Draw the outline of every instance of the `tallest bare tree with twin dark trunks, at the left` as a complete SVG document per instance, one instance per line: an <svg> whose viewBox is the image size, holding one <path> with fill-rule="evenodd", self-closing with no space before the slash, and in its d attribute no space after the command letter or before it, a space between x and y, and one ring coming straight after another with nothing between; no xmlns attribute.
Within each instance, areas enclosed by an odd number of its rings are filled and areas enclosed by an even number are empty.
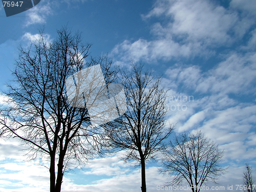
<svg viewBox="0 0 256 192"><path fill-rule="evenodd" d="M108 83L115 76L106 56L88 57L91 45L82 43L81 33L63 27L57 34L50 42L41 30L30 47L19 48L14 83L8 85L9 100L2 106L0 120L2 135L18 137L27 144L31 159L49 159L51 192L61 190L63 174L71 166L86 163L100 152L99 133L90 126L88 110L74 108L68 102L66 79L97 64Z"/></svg>

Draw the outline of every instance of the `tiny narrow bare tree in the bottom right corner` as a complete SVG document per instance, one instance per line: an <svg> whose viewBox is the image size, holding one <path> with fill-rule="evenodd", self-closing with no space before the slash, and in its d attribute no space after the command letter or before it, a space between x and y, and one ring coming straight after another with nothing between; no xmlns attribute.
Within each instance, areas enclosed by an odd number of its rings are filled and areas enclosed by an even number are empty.
<svg viewBox="0 0 256 192"><path fill-rule="evenodd" d="M251 166L248 163L245 164L245 171L244 171L243 178L244 178L244 191L245 192L256 191L255 185L253 185L255 181L252 178Z"/></svg>

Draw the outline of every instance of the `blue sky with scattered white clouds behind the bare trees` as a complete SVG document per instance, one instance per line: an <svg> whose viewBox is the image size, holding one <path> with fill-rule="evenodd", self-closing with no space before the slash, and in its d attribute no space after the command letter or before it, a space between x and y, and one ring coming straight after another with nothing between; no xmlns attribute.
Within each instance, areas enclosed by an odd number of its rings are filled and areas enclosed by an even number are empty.
<svg viewBox="0 0 256 192"><path fill-rule="evenodd" d="M245 162L256 167L255 0L41 0L10 17L1 5L0 22L1 90L11 79L19 44L35 39L42 26L54 39L56 29L68 24L93 44L92 56L108 53L122 67L141 61L163 76L167 121L177 123L175 132L202 130L224 150L223 166L229 168L219 186L235 191L243 184ZM49 191L49 171L39 165L45 161L26 161L21 148L17 140L0 140L0 191ZM120 156L74 169L62 191L140 191L139 168ZM149 192L170 180L158 166L146 165Z"/></svg>

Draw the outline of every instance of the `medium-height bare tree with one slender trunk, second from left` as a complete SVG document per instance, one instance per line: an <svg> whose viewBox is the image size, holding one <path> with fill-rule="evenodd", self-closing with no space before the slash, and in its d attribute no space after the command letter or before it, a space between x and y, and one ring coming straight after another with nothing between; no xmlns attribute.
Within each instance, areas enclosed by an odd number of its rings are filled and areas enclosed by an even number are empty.
<svg viewBox="0 0 256 192"><path fill-rule="evenodd" d="M165 94L160 78L152 71L143 72L143 66L132 63L132 71L121 72L127 111L105 126L106 139L114 148L127 150L125 160L136 160L141 166L141 191L146 191L145 162L154 159L156 152L172 132L165 126Z"/></svg>

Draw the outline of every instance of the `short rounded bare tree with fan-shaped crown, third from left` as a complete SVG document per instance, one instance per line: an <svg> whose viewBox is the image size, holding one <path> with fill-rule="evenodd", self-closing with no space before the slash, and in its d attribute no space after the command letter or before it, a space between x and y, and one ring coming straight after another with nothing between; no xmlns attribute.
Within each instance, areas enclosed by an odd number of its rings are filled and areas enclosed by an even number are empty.
<svg viewBox="0 0 256 192"><path fill-rule="evenodd" d="M163 169L160 171L174 176L168 185L185 180L193 192L199 192L204 182L216 183L225 169L220 166L223 151L210 142L201 131L187 135L176 135L169 150L163 152Z"/></svg>

